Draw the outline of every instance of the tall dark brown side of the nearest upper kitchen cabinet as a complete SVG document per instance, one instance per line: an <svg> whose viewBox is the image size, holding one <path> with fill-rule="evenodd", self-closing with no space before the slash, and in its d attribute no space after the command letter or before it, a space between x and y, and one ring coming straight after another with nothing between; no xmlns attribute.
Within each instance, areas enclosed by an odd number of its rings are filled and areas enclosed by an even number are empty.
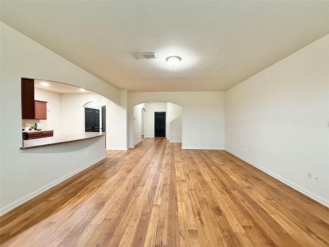
<svg viewBox="0 0 329 247"><path fill-rule="evenodd" d="M34 119L34 80L22 78L22 119Z"/></svg>

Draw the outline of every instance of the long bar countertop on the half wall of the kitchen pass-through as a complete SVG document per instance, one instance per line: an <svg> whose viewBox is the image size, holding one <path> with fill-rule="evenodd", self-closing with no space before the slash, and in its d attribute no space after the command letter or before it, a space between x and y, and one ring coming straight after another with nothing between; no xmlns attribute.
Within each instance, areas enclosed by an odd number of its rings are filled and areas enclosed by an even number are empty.
<svg viewBox="0 0 329 247"><path fill-rule="evenodd" d="M29 132L38 132L38 131L29 131ZM106 132L84 132L84 133L77 133L70 135L50 136L44 138L23 140L23 147L21 147L21 150L59 145L63 143L77 142L79 140L95 138L105 134Z"/></svg>

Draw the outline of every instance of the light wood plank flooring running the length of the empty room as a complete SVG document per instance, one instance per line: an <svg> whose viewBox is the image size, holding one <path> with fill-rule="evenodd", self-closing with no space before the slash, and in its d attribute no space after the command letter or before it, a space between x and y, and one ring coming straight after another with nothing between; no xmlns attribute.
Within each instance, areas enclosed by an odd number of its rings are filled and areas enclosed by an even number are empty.
<svg viewBox="0 0 329 247"><path fill-rule="evenodd" d="M329 246L329 209L218 150L144 138L1 217L1 246Z"/></svg>

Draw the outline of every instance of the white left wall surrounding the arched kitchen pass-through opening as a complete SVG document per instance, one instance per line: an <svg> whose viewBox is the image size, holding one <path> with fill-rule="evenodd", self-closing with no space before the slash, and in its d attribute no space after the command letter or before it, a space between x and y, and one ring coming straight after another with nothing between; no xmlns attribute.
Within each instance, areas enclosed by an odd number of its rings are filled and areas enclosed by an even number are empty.
<svg viewBox="0 0 329 247"><path fill-rule="evenodd" d="M102 158L101 153L83 155L88 146L97 149L99 142L86 142L77 146L56 150L54 153L22 153L21 78L33 78L63 82L84 87L115 102L120 101L120 91L87 73L80 67L61 58L54 52L32 41L8 25L1 23L1 88L0 88L0 214L13 208L30 196L53 185L67 174ZM10 105L10 108L7 106ZM10 119L10 120L8 120ZM8 131L10 130L10 131ZM105 142L104 138L101 138ZM101 141L100 141L101 142ZM105 144L103 144L105 146ZM80 151L79 151L80 150ZM85 154L85 153L84 153ZM56 156L56 158L54 158ZM76 164L80 167L77 168ZM65 174L64 174L65 173Z"/></svg>

